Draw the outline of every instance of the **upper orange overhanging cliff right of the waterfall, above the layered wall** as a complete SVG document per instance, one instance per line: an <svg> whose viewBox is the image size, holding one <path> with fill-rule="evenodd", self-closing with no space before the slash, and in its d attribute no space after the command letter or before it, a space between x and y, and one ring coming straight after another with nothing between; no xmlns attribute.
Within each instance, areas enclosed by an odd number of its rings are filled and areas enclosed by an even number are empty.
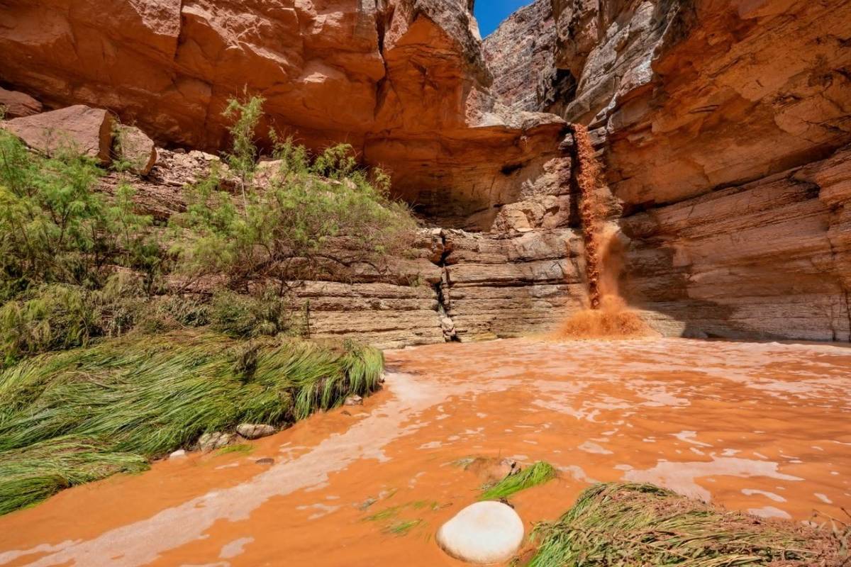
<svg viewBox="0 0 851 567"><path fill-rule="evenodd" d="M780 173L851 142L847 2L538 0L527 10L555 27L554 65L578 82L575 92L551 82L557 95L535 96L534 110L589 125L628 210ZM536 93L512 85L540 62L517 38L522 27L504 28L486 48L520 43L513 65L494 69L494 90L512 105Z"/></svg>

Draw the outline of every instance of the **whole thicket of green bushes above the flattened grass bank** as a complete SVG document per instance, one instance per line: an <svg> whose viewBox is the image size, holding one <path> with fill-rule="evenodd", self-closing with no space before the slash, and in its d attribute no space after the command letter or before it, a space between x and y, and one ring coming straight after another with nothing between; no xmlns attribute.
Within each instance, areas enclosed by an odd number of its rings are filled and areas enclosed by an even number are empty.
<svg viewBox="0 0 851 567"><path fill-rule="evenodd" d="M278 166L259 175L262 105L230 101L227 167L215 162L186 188L168 252L163 231L134 212L131 185L106 196L93 160L71 151L40 156L0 130L0 364L134 329L212 323L231 337L297 335L308 327L291 309L293 286L381 269L387 255L407 251L414 219L391 200L386 174L357 166L350 145L311 159L271 132ZM126 132L115 135L120 153ZM185 297L192 283L220 275L226 291L213 301Z"/></svg>

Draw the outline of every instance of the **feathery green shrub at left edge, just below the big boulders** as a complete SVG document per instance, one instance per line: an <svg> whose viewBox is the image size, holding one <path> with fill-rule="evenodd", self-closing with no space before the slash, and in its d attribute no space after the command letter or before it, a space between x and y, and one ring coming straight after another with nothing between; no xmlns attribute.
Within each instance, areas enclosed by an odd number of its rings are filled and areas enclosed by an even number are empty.
<svg viewBox="0 0 851 567"><path fill-rule="evenodd" d="M134 213L128 184L111 202L94 191L101 174L87 157L37 156L0 131L0 300L41 284L99 288L116 266L152 285L160 250L151 218Z"/></svg>

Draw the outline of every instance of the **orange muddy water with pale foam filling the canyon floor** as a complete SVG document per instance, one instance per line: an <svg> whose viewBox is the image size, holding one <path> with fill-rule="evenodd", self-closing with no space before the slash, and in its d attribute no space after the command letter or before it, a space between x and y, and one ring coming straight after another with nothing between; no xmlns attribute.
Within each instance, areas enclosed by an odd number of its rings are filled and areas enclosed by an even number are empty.
<svg viewBox="0 0 851 567"><path fill-rule="evenodd" d="M599 480L796 521L851 506L851 349L518 339L387 361L363 407L250 453L158 462L0 518L0 565L460 564L433 535L477 498L453 464L468 456L561 470L512 498L527 525Z"/></svg>

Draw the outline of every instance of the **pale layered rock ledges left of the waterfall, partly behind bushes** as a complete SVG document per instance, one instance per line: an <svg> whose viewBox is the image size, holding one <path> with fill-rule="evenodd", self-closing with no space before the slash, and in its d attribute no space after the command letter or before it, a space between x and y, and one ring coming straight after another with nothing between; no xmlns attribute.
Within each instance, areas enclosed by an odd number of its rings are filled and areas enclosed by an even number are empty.
<svg viewBox="0 0 851 567"><path fill-rule="evenodd" d="M165 224L186 209L183 186L218 158L197 150L161 149L158 156L145 179L110 173L100 188L111 194L120 182L132 183L140 213ZM563 173L569 178L569 167ZM379 270L354 265L334 281L300 282L294 309L306 315L311 337L360 337L381 348L550 331L585 300L582 239L574 229L523 226L503 233L423 228L411 254Z"/></svg>

